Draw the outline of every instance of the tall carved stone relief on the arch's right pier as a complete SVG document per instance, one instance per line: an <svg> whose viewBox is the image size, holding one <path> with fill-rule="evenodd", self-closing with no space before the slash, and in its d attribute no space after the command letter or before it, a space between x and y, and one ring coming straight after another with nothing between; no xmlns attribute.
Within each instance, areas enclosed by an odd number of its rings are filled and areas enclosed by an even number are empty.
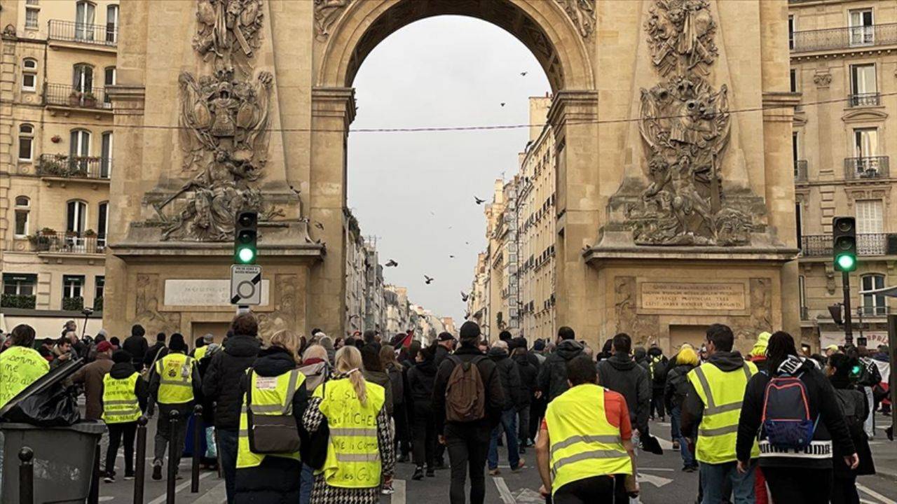
<svg viewBox="0 0 897 504"><path fill-rule="evenodd" d="M750 243L746 201L726 200L721 159L729 142L728 88L705 80L718 55L707 0L656 0L645 22L663 80L641 90L640 134L649 186L625 207L638 245Z"/></svg>

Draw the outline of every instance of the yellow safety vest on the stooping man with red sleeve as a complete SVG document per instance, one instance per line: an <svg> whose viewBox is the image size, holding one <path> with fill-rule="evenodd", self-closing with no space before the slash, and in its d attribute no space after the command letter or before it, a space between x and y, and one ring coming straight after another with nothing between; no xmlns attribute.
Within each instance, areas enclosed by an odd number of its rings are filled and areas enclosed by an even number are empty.
<svg viewBox="0 0 897 504"><path fill-rule="evenodd" d="M607 421L605 388L578 385L548 404L552 495L563 485L604 474L632 474L620 428Z"/></svg>

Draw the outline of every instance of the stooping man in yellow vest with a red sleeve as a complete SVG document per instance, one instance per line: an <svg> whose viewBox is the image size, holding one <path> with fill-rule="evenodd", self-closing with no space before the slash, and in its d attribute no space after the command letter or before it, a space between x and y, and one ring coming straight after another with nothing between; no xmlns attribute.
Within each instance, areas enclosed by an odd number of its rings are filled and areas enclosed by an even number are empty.
<svg viewBox="0 0 897 504"><path fill-rule="evenodd" d="M555 504L614 501L614 480L639 493L629 408L623 395L597 385L595 363L585 355L567 362L570 388L548 404L536 439L543 495Z"/></svg>

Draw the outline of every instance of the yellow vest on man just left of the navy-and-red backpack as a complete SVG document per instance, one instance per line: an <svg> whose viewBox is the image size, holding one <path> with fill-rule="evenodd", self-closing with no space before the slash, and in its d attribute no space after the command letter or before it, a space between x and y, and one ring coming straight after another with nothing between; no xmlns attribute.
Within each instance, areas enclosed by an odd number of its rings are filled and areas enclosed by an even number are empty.
<svg viewBox="0 0 897 504"><path fill-rule="evenodd" d="M748 361L734 371L723 371L712 363L689 371L688 380L704 404L695 448L695 458L699 462L723 464L736 460L741 402L745 398L747 382L756 372L757 367ZM760 448L754 440L751 457L757 456L760 456Z"/></svg>

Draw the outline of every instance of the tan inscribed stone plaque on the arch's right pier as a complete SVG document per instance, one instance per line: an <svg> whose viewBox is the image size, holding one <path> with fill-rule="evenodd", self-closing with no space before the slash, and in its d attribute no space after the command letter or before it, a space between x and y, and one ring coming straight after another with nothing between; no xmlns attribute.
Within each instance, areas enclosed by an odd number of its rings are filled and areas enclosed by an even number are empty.
<svg viewBox="0 0 897 504"><path fill-rule="evenodd" d="M745 284L643 282L641 308L699 311L745 309Z"/></svg>

